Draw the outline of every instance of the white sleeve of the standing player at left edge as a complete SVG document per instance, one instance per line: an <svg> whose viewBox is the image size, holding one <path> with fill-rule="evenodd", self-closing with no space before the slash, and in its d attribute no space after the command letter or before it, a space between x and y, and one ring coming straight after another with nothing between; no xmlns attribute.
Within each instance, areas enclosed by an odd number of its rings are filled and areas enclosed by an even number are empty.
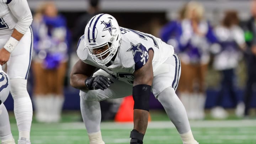
<svg viewBox="0 0 256 144"><path fill-rule="evenodd" d="M33 20L27 0L4 0L4 2L18 20L14 28L25 34Z"/></svg>

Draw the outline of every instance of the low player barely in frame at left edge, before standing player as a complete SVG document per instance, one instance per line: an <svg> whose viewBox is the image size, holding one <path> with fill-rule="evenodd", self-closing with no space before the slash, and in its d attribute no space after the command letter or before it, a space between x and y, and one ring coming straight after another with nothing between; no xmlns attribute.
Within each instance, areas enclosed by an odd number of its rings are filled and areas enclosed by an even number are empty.
<svg viewBox="0 0 256 144"><path fill-rule="evenodd" d="M4 102L10 93L10 79L0 65L0 139L1 144L15 144Z"/></svg>

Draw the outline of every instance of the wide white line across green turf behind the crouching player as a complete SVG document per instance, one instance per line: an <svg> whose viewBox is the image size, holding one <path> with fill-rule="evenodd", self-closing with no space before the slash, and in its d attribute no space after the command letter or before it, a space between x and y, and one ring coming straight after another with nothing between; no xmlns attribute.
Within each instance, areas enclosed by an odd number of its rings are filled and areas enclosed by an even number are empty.
<svg viewBox="0 0 256 144"><path fill-rule="evenodd" d="M16 124L11 124L12 128L15 128ZM71 130L71 129L85 129L83 122L70 122L70 123L32 123L32 127L59 130ZM243 127L256 127L256 120L226 120L226 121L191 121L190 126L192 128L243 128ZM133 127L132 122L119 123L119 122L102 122L101 129L131 129ZM154 121L149 122L149 129L161 129L161 128L175 128L171 121ZM34 129L37 131L36 129Z"/></svg>

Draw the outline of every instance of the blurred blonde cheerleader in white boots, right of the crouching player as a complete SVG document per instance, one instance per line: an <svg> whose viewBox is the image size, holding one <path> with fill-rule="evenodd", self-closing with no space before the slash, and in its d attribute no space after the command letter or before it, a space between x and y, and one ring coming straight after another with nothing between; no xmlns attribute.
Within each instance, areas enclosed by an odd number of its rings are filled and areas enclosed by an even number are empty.
<svg viewBox="0 0 256 144"><path fill-rule="evenodd" d="M205 77L209 63L209 49L217 42L211 26L203 19L202 4L188 2L185 19L181 22L180 53L181 78L179 94L189 119L204 118L206 99Z"/></svg>

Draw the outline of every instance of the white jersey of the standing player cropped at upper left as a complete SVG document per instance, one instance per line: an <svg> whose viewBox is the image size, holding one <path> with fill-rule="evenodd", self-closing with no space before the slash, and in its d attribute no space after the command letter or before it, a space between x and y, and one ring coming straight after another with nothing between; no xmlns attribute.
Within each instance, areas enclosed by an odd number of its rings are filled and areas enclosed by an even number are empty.
<svg viewBox="0 0 256 144"><path fill-rule="evenodd" d="M0 0L0 38L10 37L14 28L25 34L31 22L26 0Z"/></svg>

